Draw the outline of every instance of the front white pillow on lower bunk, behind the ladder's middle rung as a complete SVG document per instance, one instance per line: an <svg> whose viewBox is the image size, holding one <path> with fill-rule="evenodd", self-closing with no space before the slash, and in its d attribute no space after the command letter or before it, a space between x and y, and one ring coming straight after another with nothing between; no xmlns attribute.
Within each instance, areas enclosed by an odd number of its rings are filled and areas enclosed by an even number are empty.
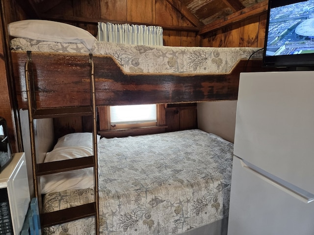
<svg viewBox="0 0 314 235"><path fill-rule="evenodd" d="M87 157L93 155L90 147L59 147L46 154L44 162ZM94 171L92 167L65 171L40 177L43 194L60 192L69 189L94 187Z"/></svg>

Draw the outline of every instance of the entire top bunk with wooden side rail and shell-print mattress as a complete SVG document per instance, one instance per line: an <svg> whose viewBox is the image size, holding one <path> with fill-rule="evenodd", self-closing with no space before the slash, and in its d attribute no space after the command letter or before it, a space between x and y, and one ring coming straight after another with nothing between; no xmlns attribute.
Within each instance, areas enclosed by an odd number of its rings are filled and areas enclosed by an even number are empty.
<svg viewBox="0 0 314 235"><path fill-rule="evenodd" d="M255 47L115 44L97 41L92 35L89 38L87 31L79 32L87 35L82 39L72 37L71 41L68 37L59 42L55 42L54 33L51 42L38 35L29 37L29 33L15 35L12 27L9 32L15 37L10 47L21 109L27 107L27 60L31 62L38 108L89 105L90 60L96 105L108 106L235 100L239 73L263 70L261 49Z"/></svg>

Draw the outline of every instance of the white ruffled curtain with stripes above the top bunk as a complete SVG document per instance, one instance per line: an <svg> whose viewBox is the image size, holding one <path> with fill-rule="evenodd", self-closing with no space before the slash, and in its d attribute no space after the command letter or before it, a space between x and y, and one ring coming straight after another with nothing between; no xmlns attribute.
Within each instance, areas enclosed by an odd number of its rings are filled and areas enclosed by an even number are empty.
<svg viewBox="0 0 314 235"><path fill-rule="evenodd" d="M163 46L162 36L163 31L160 26L98 22L98 41Z"/></svg>

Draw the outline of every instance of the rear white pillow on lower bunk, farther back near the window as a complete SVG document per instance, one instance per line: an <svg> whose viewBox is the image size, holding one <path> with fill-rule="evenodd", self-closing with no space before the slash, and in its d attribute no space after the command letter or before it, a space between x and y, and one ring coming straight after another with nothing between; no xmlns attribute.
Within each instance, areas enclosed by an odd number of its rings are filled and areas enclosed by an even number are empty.
<svg viewBox="0 0 314 235"><path fill-rule="evenodd" d="M100 140L100 136L97 135L97 142L99 142L99 140ZM60 148L60 147L70 147L70 146L93 148L93 134L90 132L79 132L79 133L67 134L58 139L53 149Z"/></svg>

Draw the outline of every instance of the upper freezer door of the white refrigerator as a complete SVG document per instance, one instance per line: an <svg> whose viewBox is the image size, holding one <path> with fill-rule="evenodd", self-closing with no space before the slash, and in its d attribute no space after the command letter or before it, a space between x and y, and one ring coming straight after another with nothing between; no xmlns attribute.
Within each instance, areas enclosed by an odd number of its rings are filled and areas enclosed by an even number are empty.
<svg viewBox="0 0 314 235"><path fill-rule="evenodd" d="M240 74L234 154L314 198L314 71Z"/></svg>

